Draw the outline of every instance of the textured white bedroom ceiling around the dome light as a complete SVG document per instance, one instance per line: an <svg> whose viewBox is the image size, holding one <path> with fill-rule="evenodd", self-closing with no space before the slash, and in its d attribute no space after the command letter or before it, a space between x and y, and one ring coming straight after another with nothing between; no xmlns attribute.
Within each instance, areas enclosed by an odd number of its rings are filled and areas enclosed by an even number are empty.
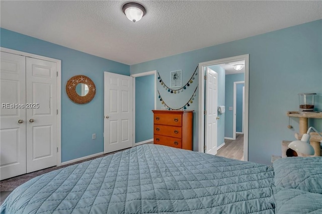
<svg viewBox="0 0 322 214"><path fill-rule="evenodd" d="M128 65L322 19L322 1L1 1L1 27Z"/></svg>

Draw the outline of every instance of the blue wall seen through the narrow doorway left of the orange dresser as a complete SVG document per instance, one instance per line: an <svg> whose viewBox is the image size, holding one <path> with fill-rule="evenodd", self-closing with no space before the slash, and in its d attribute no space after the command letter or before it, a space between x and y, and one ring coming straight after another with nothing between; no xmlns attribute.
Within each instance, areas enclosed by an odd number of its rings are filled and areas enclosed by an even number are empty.
<svg viewBox="0 0 322 214"><path fill-rule="evenodd" d="M154 75L135 77L135 143L153 139Z"/></svg>

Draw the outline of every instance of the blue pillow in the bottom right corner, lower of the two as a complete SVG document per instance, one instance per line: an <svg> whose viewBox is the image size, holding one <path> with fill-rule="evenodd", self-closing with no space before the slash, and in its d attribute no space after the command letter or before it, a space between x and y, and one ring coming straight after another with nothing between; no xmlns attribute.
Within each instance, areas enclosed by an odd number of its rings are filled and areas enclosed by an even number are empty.
<svg viewBox="0 0 322 214"><path fill-rule="evenodd" d="M322 194L300 189L273 187L272 198L276 214L322 213Z"/></svg>

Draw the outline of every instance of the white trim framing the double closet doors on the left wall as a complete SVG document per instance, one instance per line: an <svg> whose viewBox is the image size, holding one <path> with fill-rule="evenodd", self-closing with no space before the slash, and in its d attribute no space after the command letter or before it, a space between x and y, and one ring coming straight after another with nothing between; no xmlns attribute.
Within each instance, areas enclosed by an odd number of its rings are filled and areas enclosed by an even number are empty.
<svg viewBox="0 0 322 214"><path fill-rule="evenodd" d="M26 53L22 51L12 50L9 48L0 48L0 51L31 57L35 59L46 60L57 63L57 166L61 165L61 60L53 59L45 56L39 56L36 54ZM26 103L21 103L26 104Z"/></svg>

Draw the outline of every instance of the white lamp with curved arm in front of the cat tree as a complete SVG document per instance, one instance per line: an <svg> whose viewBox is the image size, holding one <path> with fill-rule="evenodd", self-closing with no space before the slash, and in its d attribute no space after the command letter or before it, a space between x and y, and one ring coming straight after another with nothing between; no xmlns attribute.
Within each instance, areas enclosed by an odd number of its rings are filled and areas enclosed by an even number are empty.
<svg viewBox="0 0 322 214"><path fill-rule="evenodd" d="M303 134L301 140L292 141L288 145L288 147L296 152L300 152L306 155L314 155L314 149L309 143L309 140L310 140L309 133L311 129L314 130L319 136L322 137L322 135L316 129L314 129L314 127L310 127L308 128L307 133ZM322 141L320 142L320 146L322 146Z"/></svg>

